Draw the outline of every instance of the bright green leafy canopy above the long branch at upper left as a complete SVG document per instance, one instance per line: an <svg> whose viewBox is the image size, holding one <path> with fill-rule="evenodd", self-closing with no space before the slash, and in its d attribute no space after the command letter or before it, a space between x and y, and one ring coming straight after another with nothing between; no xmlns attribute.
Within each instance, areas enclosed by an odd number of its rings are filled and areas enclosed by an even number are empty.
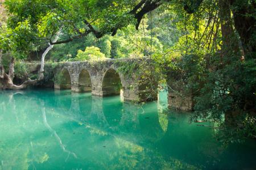
<svg viewBox="0 0 256 170"><path fill-rule="evenodd" d="M72 41L90 32L99 37L115 27L133 23L134 16L129 12L137 3L136 0L7 0L9 33L1 38L4 41L1 48L12 41L7 49L28 53L51 42L60 28L62 40Z"/></svg>

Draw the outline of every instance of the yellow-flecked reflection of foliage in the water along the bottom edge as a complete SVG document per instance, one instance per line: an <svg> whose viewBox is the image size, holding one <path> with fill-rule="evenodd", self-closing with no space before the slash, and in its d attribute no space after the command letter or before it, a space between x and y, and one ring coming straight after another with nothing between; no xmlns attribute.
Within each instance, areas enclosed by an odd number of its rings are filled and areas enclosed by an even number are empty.
<svg viewBox="0 0 256 170"><path fill-rule="evenodd" d="M106 148L90 158L101 169L199 169L174 158L164 158L155 148L147 148L117 136L110 136Z"/></svg>

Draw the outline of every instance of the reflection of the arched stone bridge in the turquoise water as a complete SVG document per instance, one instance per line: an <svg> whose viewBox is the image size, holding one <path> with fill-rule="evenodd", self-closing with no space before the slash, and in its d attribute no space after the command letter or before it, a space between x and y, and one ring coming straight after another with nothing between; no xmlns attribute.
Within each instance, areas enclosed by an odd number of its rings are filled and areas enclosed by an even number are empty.
<svg viewBox="0 0 256 170"><path fill-rule="evenodd" d="M115 97L115 99L117 98ZM55 111L64 113L63 115L79 124L85 123L102 132L113 134L136 132L134 134L136 138L144 139L146 137L150 142L158 141L165 134L168 125L167 115L162 117L163 115L156 114L158 113L156 103L152 103L152 107L144 108L141 105L122 103L121 101L114 101L115 105L112 105L109 100L112 99L98 96L81 97L79 94L60 95L56 104L69 104L56 108Z"/></svg>

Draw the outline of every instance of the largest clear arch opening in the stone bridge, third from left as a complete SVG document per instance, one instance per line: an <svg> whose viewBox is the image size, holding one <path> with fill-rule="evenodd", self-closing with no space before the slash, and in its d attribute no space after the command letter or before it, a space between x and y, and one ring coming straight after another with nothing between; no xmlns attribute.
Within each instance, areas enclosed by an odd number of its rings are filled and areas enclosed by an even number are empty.
<svg viewBox="0 0 256 170"><path fill-rule="evenodd" d="M109 69L106 71L102 81L102 95L119 95L122 88L121 78L117 71Z"/></svg>

